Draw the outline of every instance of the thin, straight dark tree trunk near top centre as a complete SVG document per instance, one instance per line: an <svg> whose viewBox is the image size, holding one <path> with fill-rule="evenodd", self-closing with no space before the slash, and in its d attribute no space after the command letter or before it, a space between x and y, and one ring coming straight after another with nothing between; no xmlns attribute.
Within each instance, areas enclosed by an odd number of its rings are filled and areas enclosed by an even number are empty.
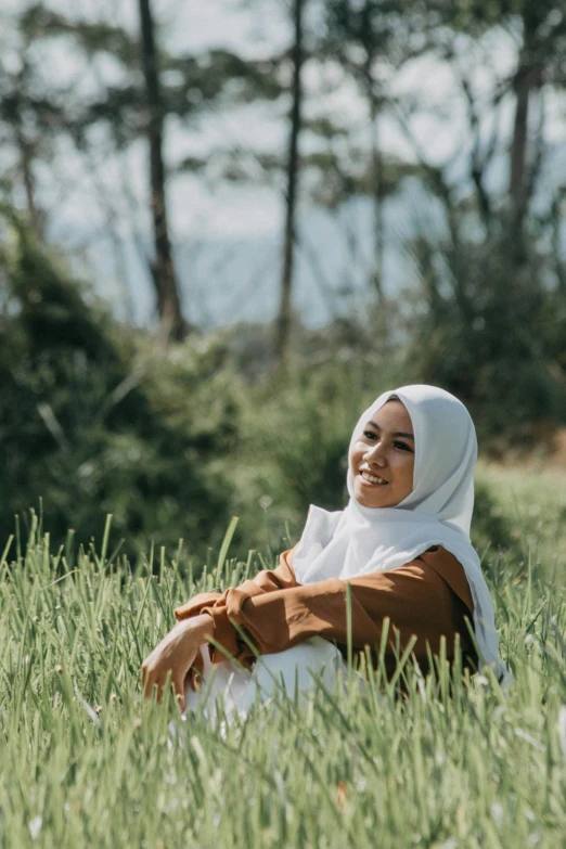
<svg viewBox="0 0 566 849"><path fill-rule="evenodd" d="M281 299L276 322L275 357L278 366L283 369L288 359L291 333L291 295L293 284L293 259L295 247L295 211L299 173L298 137L301 123L303 88L303 3L294 0L293 21L295 41L293 44L293 105L291 110L291 132L287 159L287 192L285 208L285 235L283 242L283 271L281 278Z"/></svg>

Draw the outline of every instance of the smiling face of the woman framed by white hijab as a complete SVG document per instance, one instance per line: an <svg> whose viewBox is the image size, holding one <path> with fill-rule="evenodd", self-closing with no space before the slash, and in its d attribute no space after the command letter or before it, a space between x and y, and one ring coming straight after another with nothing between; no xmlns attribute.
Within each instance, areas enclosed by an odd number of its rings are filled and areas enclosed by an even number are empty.
<svg viewBox="0 0 566 849"><path fill-rule="evenodd" d="M350 448L353 497L364 507L394 507L413 489L414 434L401 401L386 401Z"/></svg>

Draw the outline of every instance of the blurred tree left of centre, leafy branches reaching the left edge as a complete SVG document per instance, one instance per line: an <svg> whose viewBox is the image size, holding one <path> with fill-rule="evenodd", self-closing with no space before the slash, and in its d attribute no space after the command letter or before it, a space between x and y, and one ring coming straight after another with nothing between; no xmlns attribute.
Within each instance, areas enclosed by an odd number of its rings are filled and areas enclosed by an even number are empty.
<svg viewBox="0 0 566 849"><path fill-rule="evenodd" d="M250 80L257 82L267 75L261 62L244 62L230 51L210 50L193 55L158 50L150 0L139 0L139 12L141 37L103 17L87 20L80 13L63 13L48 3L14 12L10 31L23 66L14 74L0 62L0 132L16 152L17 167L11 171L13 189L16 194L23 190L37 233L41 232L43 220L50 219L51 209L42 209L38 201L42 185L36 166L49 163L50 168L43 169L43 173L51 175L56 171L57 162L63 163L61 179L53 179L50 188L62 194L68 192L65 171L69 143L74 145L81 175L88 176L95 186L104 217L114 228L114 237L119 241L118 221L121 228L128 224L132 233L155 290L165 335L180 338L186 323L181 313L166 205L167 175L179 173L180 164L164 160L167 123L175 117L190 125L213 104L219 105L234 80L242 80L245 88ZM46 50L56 52L62 44L80 67L72 83L57 78L55 65L46 74L40 61ZM105 75L108 60L112 74ZM85 80L88 94L81 90ZM125 169L115 169L114 182L106 178L108 165L127 160L140 139L150 146L147 206L153 239L145 232L144 223L137 221L141 218L138 198Z"/></svg>

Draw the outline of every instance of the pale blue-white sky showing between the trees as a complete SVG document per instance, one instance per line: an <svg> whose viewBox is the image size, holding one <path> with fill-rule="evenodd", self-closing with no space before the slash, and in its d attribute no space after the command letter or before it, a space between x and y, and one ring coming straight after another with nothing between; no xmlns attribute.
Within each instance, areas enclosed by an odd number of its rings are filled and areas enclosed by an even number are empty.
<svg viewBox="0 0 566 849"><path fill-rule="evenodd" d="M0 14L9 15L21 2L3 0ZM50 0L49 5L67 14L114 20L137 31L136 0L75 0L73 3ZM312 0L311 9L316 12ZM221 47L261 57L284 49L291 39L286 2L156 0L154 13L160 25L162 41L179 53L194 54ZM10 44L5 29L2 52L4 61L17 64L17 44ZM63 44L48 51L41 62L46 74L80 87L85 97L101 80L112 81L118 73L111 56L97 63L94 75L91 69L86 73L79 59ZM512 73L516 42L501 30L486 39L480 50L471 50L463 39L459 62L472 74L477 94L488 99L494 77L504 78ZM366 143L365 104L351 83L340 81L336 73L334 82L332 68L325 73L331 74L331 93L322 104L316 94L323 81L321 72L313 63L305 68L307 114L316 116L331 108L347 125L359 128L360 143ZM408 64L387 85L393 94L412 97L421 106L430 106L411 118L413 134L427 162L434 165L451 162L452 173L458 179L469 139L465 104L453 73L438 60L424 59ZM224 107L189 126L169 121L167 163L173 166L185 156L201 155L209 157L214 171L216 152L226 146L284 150L287 126L282 117L283 105ZM566 147L564 102L549 97L544 108L546 144L559 152ZM435 111L437 115L433 117ZM512 121L510 100L502 108L503 136L509 136ZM487 121L486 137L489 130ZM381 119L380 140L386 155L415 160L413 147L394 118ZM304 151L309 145L312 147L312 143L307 136L303 137ZM151 239L146 156L145 145L140 142L127 156L117 158L101 134L87 167L72 150L63 150L60 170L50 173L44 169L41 175L46 205L59 210L51 220L51 239L72 250L76 268L93 281L94 288L112 301L118 314L139 324L147 323L154 316L154 296L143 261ZM504 189L507 175L502 163L502 156L496 159L490 180L493 186ZM231 184L184 175L169 181L169 210L183 303L190 320L210 326L272 318L278 304L283 186L261 185L258 180ZM389 291L411 283L411 263L402 242L417 221L422 224L430 220L435 218L429 201L414 185L403 186L398 197L387 202L385 270ZM306 323L322 324L336 312L363 309L371 267L371 204L359 198L331 214L303 197L299 230L304 246L298 252L294 303ZM356 245L353 254L352 244Z"/></svg>

